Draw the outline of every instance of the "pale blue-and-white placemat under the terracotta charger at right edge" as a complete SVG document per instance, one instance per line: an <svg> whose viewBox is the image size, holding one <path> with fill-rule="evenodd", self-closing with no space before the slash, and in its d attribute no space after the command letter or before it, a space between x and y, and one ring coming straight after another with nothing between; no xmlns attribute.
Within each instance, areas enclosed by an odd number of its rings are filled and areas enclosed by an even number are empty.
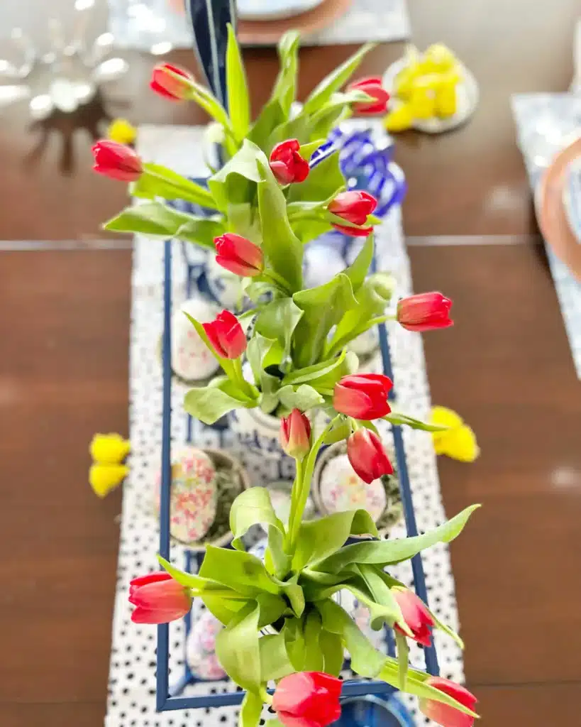
<svg viewBox="0 0 581 727"><path fill-rule="evenodd" d="M512 99L519 148L534 191L551 158L571 134L581 134L581 96L516 94ZM577 377L581 379L581 284L545 244L558 302L571 345Z"/></svg>

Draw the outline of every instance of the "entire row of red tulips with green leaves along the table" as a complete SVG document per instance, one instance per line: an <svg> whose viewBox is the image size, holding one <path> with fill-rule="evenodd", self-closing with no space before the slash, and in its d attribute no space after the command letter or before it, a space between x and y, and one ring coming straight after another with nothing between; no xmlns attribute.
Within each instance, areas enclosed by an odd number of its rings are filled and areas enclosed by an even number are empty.
<svg viewBox="0 0 581 727"><path fill-rule="evenodd" d="M385 103L375 81L362 84L365 91L338 90L367 47L322 81L301 113L291 118L297 45L294 34L281 41L281 71L272 99L252 125L232 32L228 113L181 69L163 65L154 72L158 90L197 100L221 126L224 165L207 185L146 164L128 148L103 142L95 149L97 171L129 180L131 193L148 200L127 208L107 228L211 247L219 265L243 278L252 302L240 316L224 310L210 323L190 318L223 375L188 391L185 409L206 424L240 409L273 414L280 420L280 445L296 462L288 522L277 517L267 489L244 491L230 512L233 547L208 546L195 575L160 558L165 572L131 583L132 618L169 622L187 614L192 598L200 598L224 624L216 641L219 661L246 690L241 727L256 727L264 704L272 704L277 719L288 727L325 727L336 720L345 649L361 677L379 678L417 695L420 709L444 726L469 727L476 717L474 696L408 664L408 639L429 646L434 628L461 645L460 638L389 569L438 542L450 542L478 506L434 531L394 540L378 539L366 510L315 521L303 518L322 446L346 441L355 472L371 482L392 472L378 421L442 429L392 411L391 380L359 371L349 342L389 318L412 331L443 328L452 321L450 300L436 292L400 300L386 312L391 276L369 274L378 222L375 199L345 190L337 153L323 155L320 164L312 161L330 126L354 106L377 110ZM166 204L173 198L195 201L214 214L177 212ZM324 285L305 289L304 244L333 227L362 238L359 254ZM268 534L264 561L244 546L245 533L256 524ZM334 596L344 589L369 608L373 629L385 624L394 629L397 659L378 651L337 603Z"/></svg>

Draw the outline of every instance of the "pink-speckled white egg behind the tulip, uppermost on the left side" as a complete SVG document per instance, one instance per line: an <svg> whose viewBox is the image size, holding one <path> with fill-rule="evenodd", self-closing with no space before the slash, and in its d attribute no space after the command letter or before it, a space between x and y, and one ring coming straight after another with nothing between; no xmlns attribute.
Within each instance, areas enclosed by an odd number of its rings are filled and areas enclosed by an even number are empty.
<svg viewBox="0 0 581 727"><path fill-rule="evenodd" d="M184 313L209 323L219 310L202 298L190 298L171 316L171 368L185 381L205 381L220 366Z"/></svg>

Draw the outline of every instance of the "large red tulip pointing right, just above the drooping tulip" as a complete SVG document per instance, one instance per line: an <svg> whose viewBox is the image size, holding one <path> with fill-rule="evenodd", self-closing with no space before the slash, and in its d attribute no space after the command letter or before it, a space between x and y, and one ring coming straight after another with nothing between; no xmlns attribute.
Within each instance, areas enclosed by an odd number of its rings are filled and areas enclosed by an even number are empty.
<svg viewBox="0 0 581 727"><path fill-rule="evenodd" d="M354 419L381 419L391 411L387 395L393 383L383 374L344 376L333 392L333 406Z"/></svg>

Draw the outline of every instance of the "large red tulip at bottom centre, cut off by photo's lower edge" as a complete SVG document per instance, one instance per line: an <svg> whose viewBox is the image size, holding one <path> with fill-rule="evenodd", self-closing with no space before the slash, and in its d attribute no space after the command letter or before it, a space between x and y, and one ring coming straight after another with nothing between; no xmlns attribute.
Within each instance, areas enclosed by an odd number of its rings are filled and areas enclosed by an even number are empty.
<svg viewBox="0 0 581 727"><path fill-rule="evenodd" d="M277 684L272 708L285 727L326 727L341 717L341 679L324 672L296 672Z"/></svg>

